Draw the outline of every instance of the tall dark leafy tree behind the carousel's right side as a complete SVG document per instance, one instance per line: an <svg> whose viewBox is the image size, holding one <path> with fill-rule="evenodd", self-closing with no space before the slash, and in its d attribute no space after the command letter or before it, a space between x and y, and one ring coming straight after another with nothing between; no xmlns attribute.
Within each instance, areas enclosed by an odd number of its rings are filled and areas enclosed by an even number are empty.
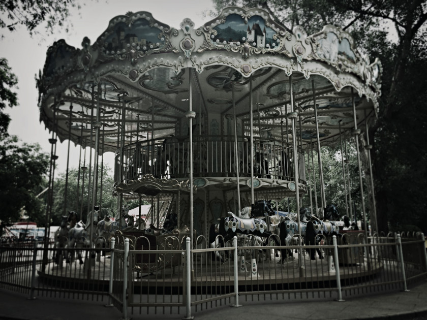
<svg viewBox="0 0 427 320"><path fill-rule="evenodd" d="M379 230L403 223L427 232L427 187L423 132L427 125L425 71L427 4L422 0L214 0L267 10L288 30L302 25L313 34L325 24L341 26L357 47L382 63L378 120L369 135L373 145ZM397 35L393 38L393 33ZM360 144L362 145L362 144ZM360 150L361 154L363 150ZM364 159L366 162L366 159ZM367 172L366 172L367 173ZM422 178L419 178L422 177ZM405 211L407 214L402 214Z"/></svg>

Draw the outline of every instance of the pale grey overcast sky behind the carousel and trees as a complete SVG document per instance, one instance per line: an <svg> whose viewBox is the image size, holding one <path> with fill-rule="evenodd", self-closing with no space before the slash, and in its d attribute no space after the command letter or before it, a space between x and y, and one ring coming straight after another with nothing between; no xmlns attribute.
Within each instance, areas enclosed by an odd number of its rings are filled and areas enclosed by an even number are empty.
<svg viewBox="0 0 427 320"><path fill-rule="evenodd" d="M213 8L211 0L162 0L157 1L105 1L92 0L80 1L81 9L71 10L69 17L72 27L67 33L63 29L57 29L53 35L45 33L43 26L37 31L40 35L31 38L25 28L19 28L13 33L4 31L5 39L0 40L0 57L5 57L9 61L12 72L18 77L19 106L6 108L12 121L9 125L9 134L16 135L26 143L39 143L42 151L50 154L51 145L48 141L51 138L49 131L45 129L43 123L39 121L38 90L36 88L35 75L39 70L43 70L46 60L47 49L57 40L65 39L66 42L76 48L81 48L81 42L84 37L90 39L93 44L98 37L105 31L108 22L118 15L124 15L129 11L147 11L153 17L171 27L179 29L179 23L185 18L190 18L195 28L210 20L210 17L204 17L203 11ZM166 10L167 9L167 10ZM57 173L65 173L67 170L67 151L68 140L57 143L56 154L58 155ZM79 166L80 147L70 145L70 168ZM82 156L84 151L82 151ZM83 159L82 159L83 161ZM89 148L86 149L86 166L89 161ZM113 153L104 154L104 163L113 168Z"/></svg>

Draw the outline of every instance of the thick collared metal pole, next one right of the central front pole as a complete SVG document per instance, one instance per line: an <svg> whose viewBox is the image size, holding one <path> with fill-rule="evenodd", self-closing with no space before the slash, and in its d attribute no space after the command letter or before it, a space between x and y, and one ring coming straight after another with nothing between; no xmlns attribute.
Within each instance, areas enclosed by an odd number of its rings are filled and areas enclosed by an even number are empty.
<svg viewBox="0 0 427 320"><path fill-rule="evenodd" d="M289 76L289 95L291 98L291 112L287 114L291 118L292 123L292 145L293 145L293 155L294 155L294 177L295 177L295 199L296 199L296 217L298 223L298 265L300 276L303 276L304 268L304 258L302 255L302 238L301 238L301 220L299 216L299 171L298 171L298 153L296 148L296 128L295 128L295 119L297 113L294 111L294 97L293 97L293 85L292 85L292 74Z"/></svg>

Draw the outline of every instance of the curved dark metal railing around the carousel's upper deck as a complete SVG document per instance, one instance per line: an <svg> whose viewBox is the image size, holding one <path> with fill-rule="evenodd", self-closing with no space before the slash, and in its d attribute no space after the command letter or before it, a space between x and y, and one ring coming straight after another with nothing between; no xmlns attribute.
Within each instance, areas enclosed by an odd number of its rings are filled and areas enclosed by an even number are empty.
<svg viewBox="0 0 427 320"><path fill-rule="evenodd" d="M189 173L189 139L172 137L129 144L115 154L115 179L123 181L151 174L156 178L186 178ZM239 175L250 177L251 150L248 137L237 138ZM233 136L193 137L194 177L235 175ZM275 139L254 138L254 175L259 178L293 180L293 149ZM304 155L298 150L300 182L306 180ZM119 168L121 166L121 177Z"/></svg>

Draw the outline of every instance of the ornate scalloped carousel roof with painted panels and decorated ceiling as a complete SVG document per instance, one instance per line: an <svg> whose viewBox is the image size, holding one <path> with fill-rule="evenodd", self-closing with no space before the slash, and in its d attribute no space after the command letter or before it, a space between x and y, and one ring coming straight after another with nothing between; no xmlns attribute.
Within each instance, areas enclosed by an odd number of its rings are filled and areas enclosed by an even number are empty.
<svg viewBox="0 0 427 320"><path fill-rule="evenodd" d="M173 28L137 12L111 19L92 45L87 38L80 49L55 42L39 81L40 120L61 141L71 125L74 143L92 145L99 105L104 152L117 150L122 123L125 144L137 135L166 137L189 111L191 78L196 113L232 115L234 97L249 130L252 97L260 111L255 134L291 140L291 75L302 145L316 140L314 107L322 145L339 140L340 126L353 129L353 98L359 123L375 119L381 64L370 63L348 33L331 25L289 33L261 9L229 7L198 28L190 19Z"/></svg>

